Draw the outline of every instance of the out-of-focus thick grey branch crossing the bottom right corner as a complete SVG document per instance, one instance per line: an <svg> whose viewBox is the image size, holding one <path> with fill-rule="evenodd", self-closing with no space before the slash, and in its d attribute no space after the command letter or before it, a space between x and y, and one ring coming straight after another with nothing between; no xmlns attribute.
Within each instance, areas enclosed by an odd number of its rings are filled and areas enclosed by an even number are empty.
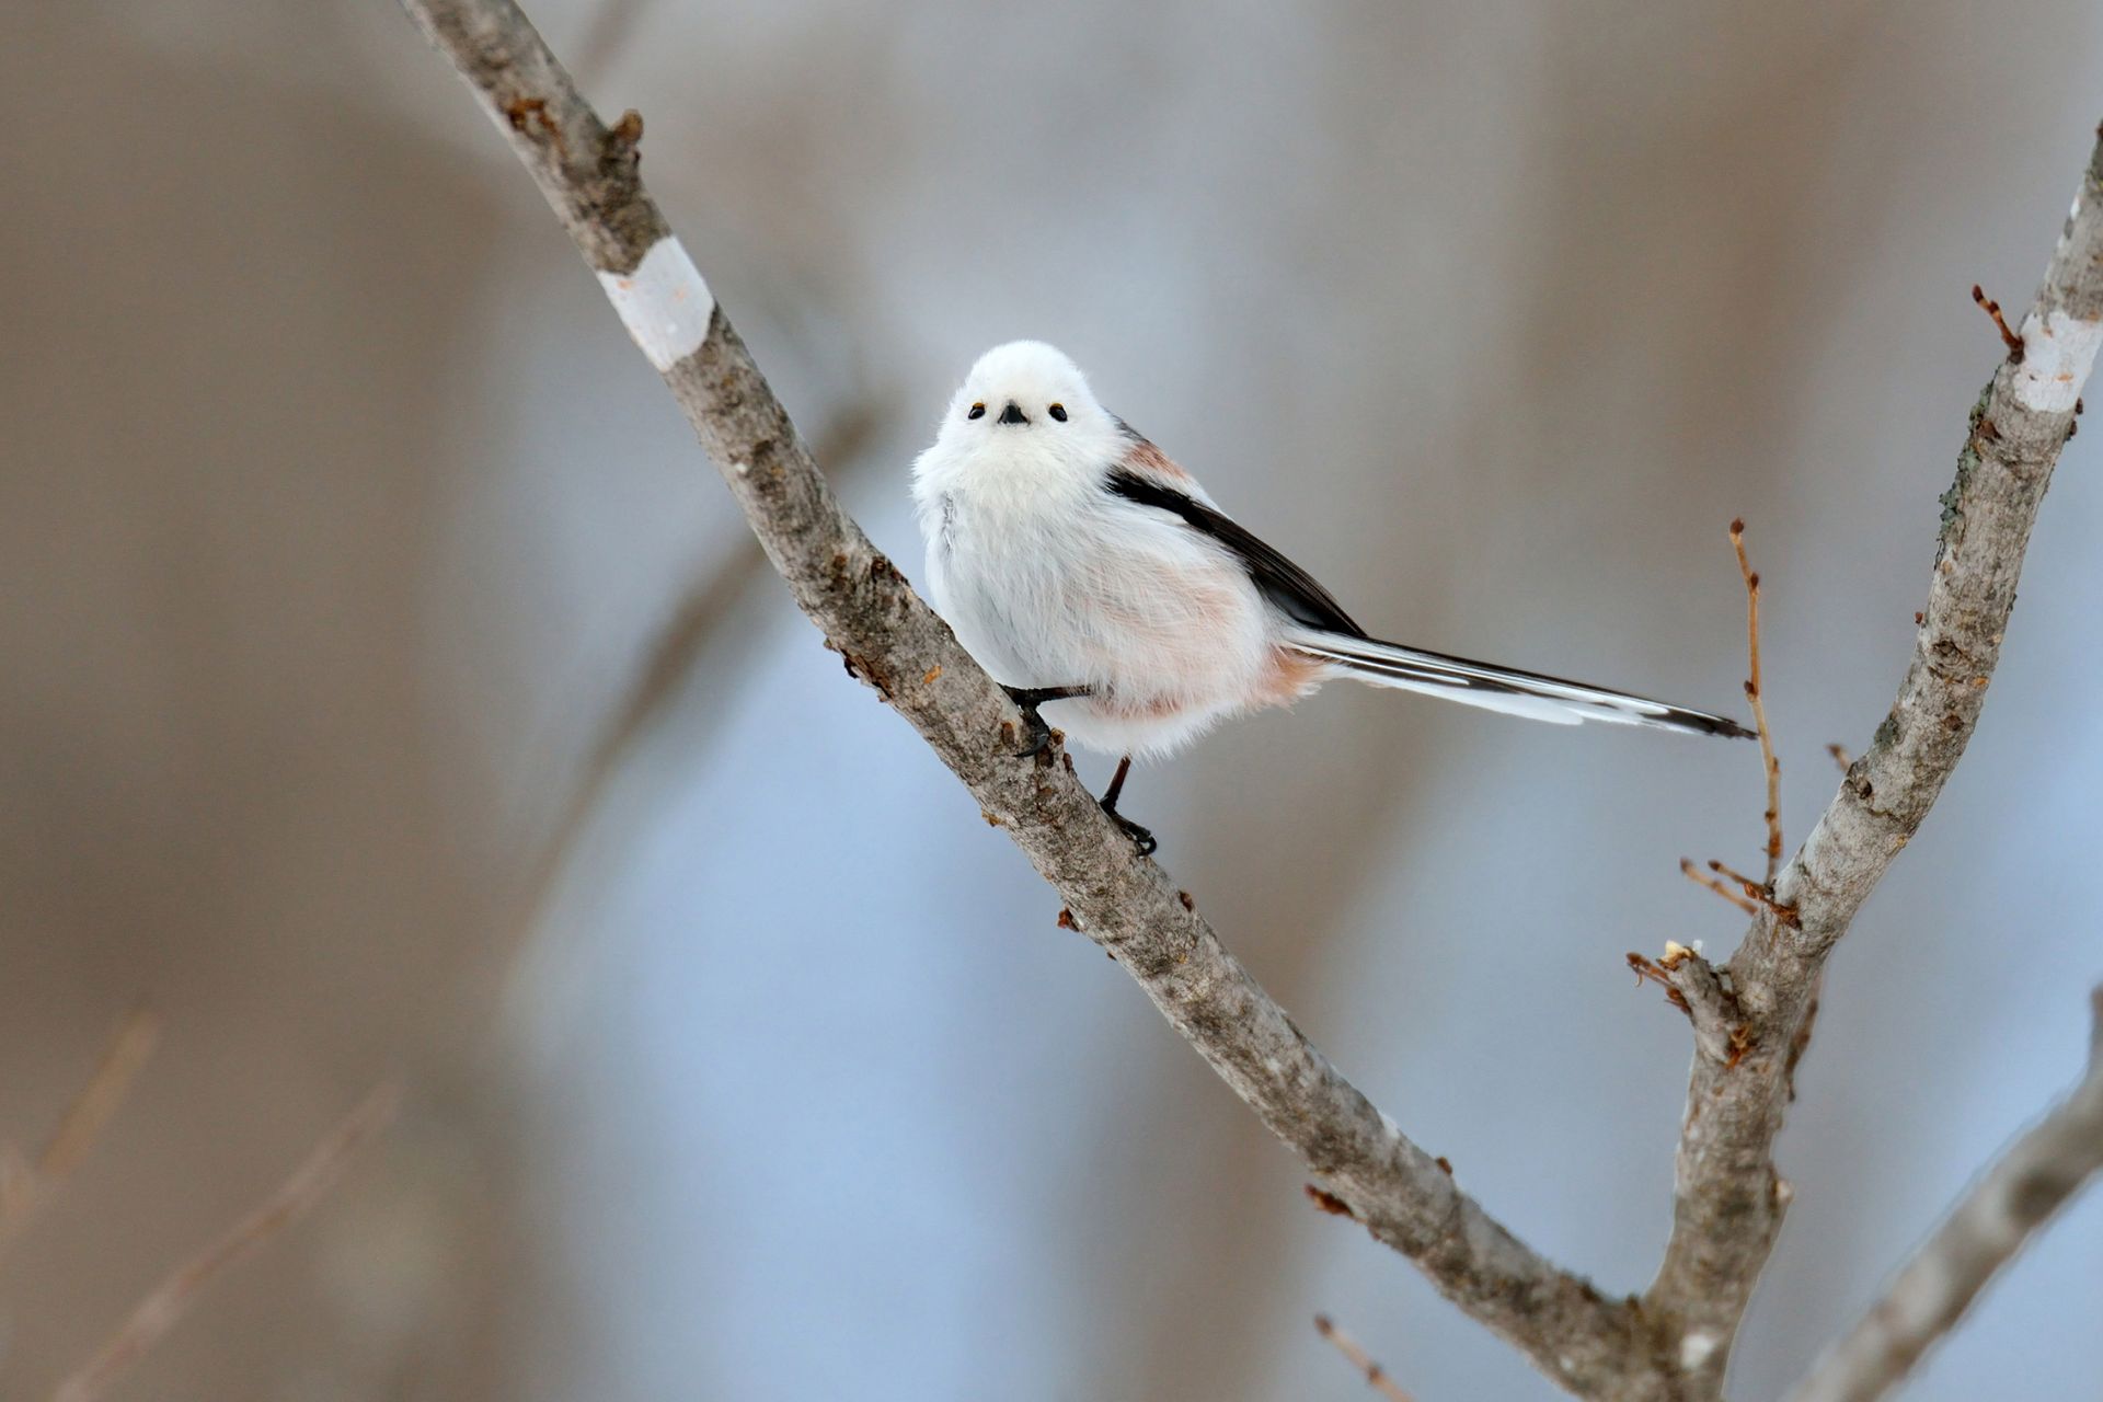
<svg viewBox="0 0 2103 1402"><path fill-rule="evenodd" d="M1958 1198L1899 1267L1884 1297L1790 1394L1792 1402L1872 1402L1899 1385L2031 1232L2103 1169L2103 988L2090 996L2088 1072Z"/></svg>

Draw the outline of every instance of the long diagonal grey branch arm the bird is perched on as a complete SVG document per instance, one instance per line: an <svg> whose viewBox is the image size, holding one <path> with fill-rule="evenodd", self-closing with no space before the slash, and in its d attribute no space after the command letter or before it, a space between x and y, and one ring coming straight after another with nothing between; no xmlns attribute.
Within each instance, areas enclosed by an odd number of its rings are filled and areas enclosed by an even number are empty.
<svg viewBox="0 0 2103 1402"><path fill-rule="evenodd" d="M1375 1238L1565 1387L1653 1396L1638 1316L1535 1255L1375 1110L1058 761L848 519L612 130L511 0L404 0L526 162L665 376L797 605L1005 826L1073 921ZM698 309L698 315L696 315Z"/></svg>

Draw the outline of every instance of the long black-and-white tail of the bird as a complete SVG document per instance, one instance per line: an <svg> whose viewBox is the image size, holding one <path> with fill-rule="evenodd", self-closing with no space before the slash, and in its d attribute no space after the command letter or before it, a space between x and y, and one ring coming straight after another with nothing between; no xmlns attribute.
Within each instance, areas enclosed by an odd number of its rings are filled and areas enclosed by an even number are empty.
<svg viewBox="0 0 2103 1402"><path fill-rule="evenodd" d="M1489 662L1468 662L1466 658L1449 658L1438 652L1382 643L1369 637L1306 628L1293 635L1291 647L1375 687L1443 696L1464 706L1523 715L1531 721L1550 721L1554 725L1613 721L1615 725L1651 725L1655 729L1680 729L1697 736L1754 738L1754 731L1720 715L1668 706L1666 702L1609 692L1584 681L1563 681L1560 677L1518 673L1508 666L1491 666Z"/></svg>

